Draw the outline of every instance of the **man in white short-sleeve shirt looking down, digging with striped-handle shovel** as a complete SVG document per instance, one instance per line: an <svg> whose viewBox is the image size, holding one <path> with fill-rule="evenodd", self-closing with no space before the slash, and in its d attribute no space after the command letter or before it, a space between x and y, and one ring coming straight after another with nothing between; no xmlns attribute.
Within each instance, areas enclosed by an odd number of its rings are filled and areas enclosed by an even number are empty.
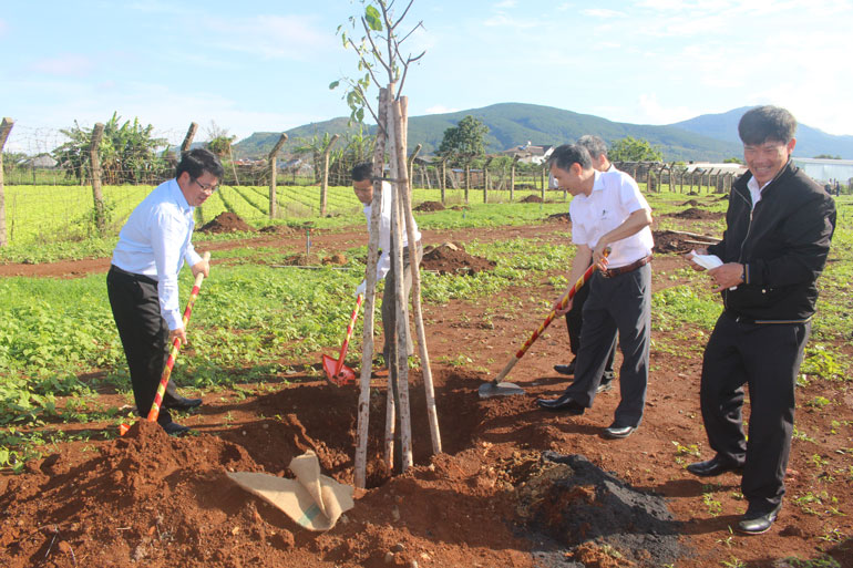
<svg viewBox="0 0 853 568"><path fill-rule="evenodd" d="M605 437L629 436L643 420L648 382L651 324L651 209L637 183L624 172L593 168L589 152L569 144L554 151L551 173L573 195L572 241L577 246L566 292L590 264L589 298L584 306L575 381L558 399L538 400L541 407L583 414L593 405L613 337L619 332L621 400ZM609 256L605 250L610 249ZM572 302L557 312L572 309Z"/></svg>

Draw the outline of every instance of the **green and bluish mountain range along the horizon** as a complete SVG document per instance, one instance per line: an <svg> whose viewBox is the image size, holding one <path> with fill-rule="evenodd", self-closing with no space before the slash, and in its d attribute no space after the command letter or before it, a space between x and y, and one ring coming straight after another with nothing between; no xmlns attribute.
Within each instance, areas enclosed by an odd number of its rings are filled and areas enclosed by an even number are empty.
<svg viewBox="0 0 853 568"><path fill-rule="evenodd" d="M499 153L527 142L534 145L558 145L573 142L584 134L597 134L608 144L633 136L644 138L658 147L667 162L721 162L741 157L742 146L738 138L738 122L750 107L743 106L721 114L703 114L695 118L668 125L630 124L613 122L590 114L524 103L499 103L482 109L471 109L445 114L409 117L409 152L422 145L421 156L432 155L441 145L444 131L456 126L471 115L489 127L485 136L486 152ZM287 131L288 142L282 153L310 141L312 136L358 131L348 118L337 117L325 122L305 124ZM376 126L368 126L370 134ZM256 132L233 146L235 157L266 157L278 141L280 133ZM339 143L340 144L340 143ZM814 157L821 154L853 159L853 136L836 136L800 124L797 132L794 156Z"/></svg>

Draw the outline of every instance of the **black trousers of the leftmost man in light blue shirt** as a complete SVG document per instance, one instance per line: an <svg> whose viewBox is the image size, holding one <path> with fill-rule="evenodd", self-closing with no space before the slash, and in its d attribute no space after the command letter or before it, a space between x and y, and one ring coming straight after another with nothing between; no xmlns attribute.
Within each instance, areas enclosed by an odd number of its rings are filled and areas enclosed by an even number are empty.
<svg viewBox="0 0 853 568"><path fill-rule="evenodd" d="M168 359L168 326L160 313L157 282L112 267L106 275L106 292L131 372L136 410L144 419L154 402ZM177 389L169 380L163 402L176 397ZM172 422L172 415L162 405L157 422Z"/></svg>

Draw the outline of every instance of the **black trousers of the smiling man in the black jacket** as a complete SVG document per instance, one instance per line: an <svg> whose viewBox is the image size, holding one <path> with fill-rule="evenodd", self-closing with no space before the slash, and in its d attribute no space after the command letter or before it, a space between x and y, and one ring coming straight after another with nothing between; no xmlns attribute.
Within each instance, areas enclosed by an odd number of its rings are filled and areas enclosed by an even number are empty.
<svg viewBox="0 0 853 568"><path fill-rule="evenodd" d="M791 453L794 386L811 323L744 323L723 312L702 359L699 391L708 442L723 459L743 464L741 492L768 513L782 502ZM749 436L743 433L743 385Z"/></svg>

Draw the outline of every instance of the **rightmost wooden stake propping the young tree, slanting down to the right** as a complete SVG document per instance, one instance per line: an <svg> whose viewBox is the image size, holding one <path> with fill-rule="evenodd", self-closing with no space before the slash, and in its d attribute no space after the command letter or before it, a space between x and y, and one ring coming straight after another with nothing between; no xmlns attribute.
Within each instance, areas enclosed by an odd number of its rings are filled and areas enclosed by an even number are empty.
<svg viewBox="0 0 853 568"><path fill-rule="evenodd" d="M402 133L403 141L408 140L409 133L409 97L402 96L399 103L394 104L394 121L400 122L399 131ZM400 192L402 196L403 214L405 215L405 231L409 240L409 254L414 248L414 215L412 213L411 190L403 187ZM413 257L410 256L410 259ZM441 453L441 431L439 430L439 413L435 406L435 389L432 381L432 369L430 368L430 353L426 349L426 331L423 327L423 310L421 308L421 271L420 262L411 262L412 271L412 313L414 316L414 328L418 334L418 348L421 357L421 374L423 375L423 389L426 397L426 417L430 422L430 434L432 438L432 453ZM407 322L408 330L408 322Z"/></svg>

